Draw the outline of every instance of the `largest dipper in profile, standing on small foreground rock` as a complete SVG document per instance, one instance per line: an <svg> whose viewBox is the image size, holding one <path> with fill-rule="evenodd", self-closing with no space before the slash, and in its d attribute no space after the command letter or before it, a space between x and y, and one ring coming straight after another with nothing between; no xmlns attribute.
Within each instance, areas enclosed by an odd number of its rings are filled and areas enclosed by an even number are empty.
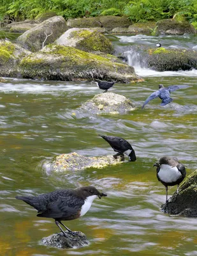
<svg viewBox="0 0 197 256"><path fill-rule="evenodd" d="M66 236L60 224L71 234L75 235L75 232L72 232L61 221L75 220L84 216L97 196L101 198L106 194L99 192L93 186L87 186L77 189L59 189L38 196L16 196L16 198L38 210L38 217L54 218L55 224Z"/></svg>

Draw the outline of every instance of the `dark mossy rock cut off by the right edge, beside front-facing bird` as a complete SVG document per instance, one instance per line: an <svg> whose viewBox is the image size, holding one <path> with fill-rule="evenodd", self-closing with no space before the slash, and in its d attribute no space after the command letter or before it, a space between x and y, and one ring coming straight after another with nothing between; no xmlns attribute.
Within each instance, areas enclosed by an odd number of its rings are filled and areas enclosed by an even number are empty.
<svg viewBox="0 0 197 256"><path fill-rule="evenodd" d="M161 209L175 215L197 216L197 170L180 184L179 194L175 192Z"/></svg>

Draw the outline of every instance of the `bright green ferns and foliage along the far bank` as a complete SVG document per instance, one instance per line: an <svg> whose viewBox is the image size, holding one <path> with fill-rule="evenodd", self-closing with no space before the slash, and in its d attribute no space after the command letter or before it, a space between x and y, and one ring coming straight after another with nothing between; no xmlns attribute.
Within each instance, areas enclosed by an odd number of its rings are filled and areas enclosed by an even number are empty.
<svg viewBox="0 0 197 256"><path fill-rule="evenodd" d="M127 15L134 22L177 16L197 22L197 0L0 0L0 20L34 19L55 12L65 19L98 15Z"/></svg>

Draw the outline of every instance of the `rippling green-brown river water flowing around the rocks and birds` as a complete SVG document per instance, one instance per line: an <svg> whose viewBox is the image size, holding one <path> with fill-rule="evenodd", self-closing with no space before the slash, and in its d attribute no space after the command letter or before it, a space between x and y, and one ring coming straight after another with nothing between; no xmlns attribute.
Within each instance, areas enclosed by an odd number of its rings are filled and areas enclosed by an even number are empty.
<svg viewBox="0 0 197 256"><path fill-rule="evenodd" d="M136 37L119 36L113 43L141 44ZM156 42L152 36L144 37L146 44ZM171 44L176 40L179 47L192 48L194 39L171 38ZM169 37L162 41L169 43ZM129 59L129 52L127 55ZM154 72L136 59L131 61L145 81L117 83L110 89L138 107L127 115L73 118L82 102L101 93L91 82L6 79L0 83L0 255L197 255L197 220L161 212L165 189L153 167L159 157L169 155L185 164L187 174L196 169L196 70ZM171 93L173 102L167 106L161 107L161 100L154 99L141 110L159 83L191 87ZM128 140L137 161L72 173L53 174L43 168L62 153L113 154L98 134ZM58 227L52 219L36 217L36 210L15 196L89 184L108 197L96 199L82 218L64 222L71 230L84 232L89 246L61 250L41 245L41 238L59 232ZM170 188L169 194L175 189Z"/></svg>

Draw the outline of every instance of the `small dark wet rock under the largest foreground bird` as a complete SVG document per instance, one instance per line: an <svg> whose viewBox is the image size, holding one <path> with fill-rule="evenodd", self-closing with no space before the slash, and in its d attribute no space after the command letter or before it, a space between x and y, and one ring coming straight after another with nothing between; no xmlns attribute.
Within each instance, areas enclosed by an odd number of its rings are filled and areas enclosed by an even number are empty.
<svg viewBox="0 0 197 256"><path fill-rule="evenodd" d="M48 237L43 237L41 244L63 249L80 248L89 244L84 233L75 231L75 235L76 236L73 236L68 233L68 237L65 237L62 233L52 234Z"/></svg>

